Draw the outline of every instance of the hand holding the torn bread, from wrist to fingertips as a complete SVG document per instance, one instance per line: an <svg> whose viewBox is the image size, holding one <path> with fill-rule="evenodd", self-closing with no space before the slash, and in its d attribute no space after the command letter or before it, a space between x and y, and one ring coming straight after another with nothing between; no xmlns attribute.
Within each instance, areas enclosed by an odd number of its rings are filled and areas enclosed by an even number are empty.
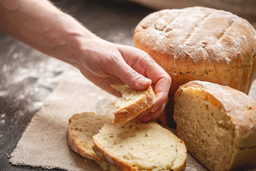
<svg viewBox="0 0 256 171"><path fill-rule="evenodd" d="M133 89L144 90L152 86L156 103L140 114L141 121L156 120L164 111L171 78L146 52L100 38L81 43L79 49L81 65L78 68L86 78L105 91L120 96L110 86L120 79Z"/></svg>

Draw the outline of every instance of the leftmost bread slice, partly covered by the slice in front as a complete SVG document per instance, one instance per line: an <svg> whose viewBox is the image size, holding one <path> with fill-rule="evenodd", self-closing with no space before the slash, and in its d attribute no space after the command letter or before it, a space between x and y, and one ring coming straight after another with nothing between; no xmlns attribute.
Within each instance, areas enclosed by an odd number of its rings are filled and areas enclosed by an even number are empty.
<svg viewBox="0 0 256 171"><path fill-rule="evenodd" d="M91 146L94 145L92 136L99 132L104 123L111 123L113 117L100 117L94 112L73 115L67 127L68 144L74 152L92 160L100 160Z"/></svg>

